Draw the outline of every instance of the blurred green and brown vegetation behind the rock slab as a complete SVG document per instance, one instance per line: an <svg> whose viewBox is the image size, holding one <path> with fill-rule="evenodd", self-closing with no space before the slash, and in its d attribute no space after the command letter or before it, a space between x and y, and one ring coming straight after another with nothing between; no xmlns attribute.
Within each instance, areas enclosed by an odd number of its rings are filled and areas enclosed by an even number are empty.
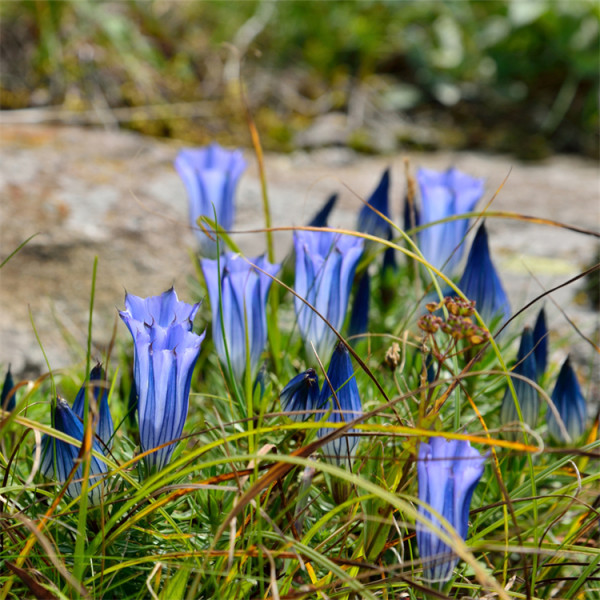
<svg viewBox="0 0 600 600"><path fill-rule="evenodd" d="M445 145L598 156L595 0L267 1L1 3L0 106L209 102L197 127L174 112L119 120L243 144L223 73L231 44L246 44L242 73L270 149L292 149L298 130L347 112L360 89L383 114L447 131Z"/></svg>

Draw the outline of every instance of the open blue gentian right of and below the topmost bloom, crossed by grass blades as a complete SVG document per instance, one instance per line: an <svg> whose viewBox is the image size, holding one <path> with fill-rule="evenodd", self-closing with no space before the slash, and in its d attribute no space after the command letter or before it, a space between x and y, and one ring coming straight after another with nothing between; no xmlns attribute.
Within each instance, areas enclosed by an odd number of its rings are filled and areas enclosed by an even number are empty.
<svg viewBox="0 0 600 600"><path fill-rule="evenodd" d="M241 380L246 370L246 329L252 373L256 371L267 343L266 304L273 282L269 275L275 276L280 265L272 265L264 256L248 261L228 252L219 261L203 259L201 267L210 298L217 354L221 362L227 365L229 353L233 374Z"/></svg>

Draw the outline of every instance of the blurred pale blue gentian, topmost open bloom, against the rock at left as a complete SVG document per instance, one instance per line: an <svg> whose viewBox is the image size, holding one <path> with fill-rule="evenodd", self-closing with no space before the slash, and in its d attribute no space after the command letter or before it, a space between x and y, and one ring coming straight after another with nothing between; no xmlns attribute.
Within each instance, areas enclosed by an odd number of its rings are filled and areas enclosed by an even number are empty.
<svg viewBox="0 0 600 600"><path fill-rule="evenodd" d="M202 254L215 256L216 243L198 226L199 217L215 220L228 231L235 216L234 195L246 161L240 150L229 151L218 144L205 148L186 148L175 159L189 199L190 222Z"/></svg>

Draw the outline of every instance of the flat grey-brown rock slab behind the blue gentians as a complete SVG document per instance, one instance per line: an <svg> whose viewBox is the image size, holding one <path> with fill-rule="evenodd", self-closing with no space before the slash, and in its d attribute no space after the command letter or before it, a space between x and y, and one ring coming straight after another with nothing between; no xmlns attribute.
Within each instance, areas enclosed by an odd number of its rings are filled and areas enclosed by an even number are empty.
<svg viewBox="0 0 600 600"><path fill-rule="evenodd" d="M195 237L187 197L173 168L183 143L134 133L80 127L4 124L0 129L0 260L35 237L0 270L0 365L19 378L45 372L33 324L52 369L83 364L90 287L98 257L93 314L93 353L101 357L117 328L125 290L158 294L175 285L192 300L190 253ZM238 189L236 230L263 227L262 200L253 153ZM460 169L487 180L482 207L499 191L492 210L555 220L598 230L600 178L585 158L555 156L524 164L505 155L408 152L365 157L342 147L268 154L265 165L274 226L302 225L331 192L340 198L330 222L353 227L361 206L386 167L392 169L392 212L400 222L404 159L411 168ZM583 271L595 260L597 238L544 224L488 219L496 265L513 309ZM236 234L249 255L264 252L262 234ZM291 233L275 234L278 260ZM578 281L546 299L557 360L573 352L581 369L599 372L598 312ZM597 309L597 307L596 307ZM532 323L537 307L520 319ZM566 337L564 337L566 335Z"/></svg>

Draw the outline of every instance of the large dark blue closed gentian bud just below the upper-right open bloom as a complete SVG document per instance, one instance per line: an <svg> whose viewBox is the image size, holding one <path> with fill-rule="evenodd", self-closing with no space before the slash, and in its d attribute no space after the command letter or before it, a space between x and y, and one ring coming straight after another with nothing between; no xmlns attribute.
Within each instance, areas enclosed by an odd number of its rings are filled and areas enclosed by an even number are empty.
<svg viewBox="0 0 600 600"><path fill-rule="evenodd" d="M475 301L475 308L488 327L494 319L503 324L510 318L510 305L490 257L484 223L477 230L458 287Z"/></svg>

